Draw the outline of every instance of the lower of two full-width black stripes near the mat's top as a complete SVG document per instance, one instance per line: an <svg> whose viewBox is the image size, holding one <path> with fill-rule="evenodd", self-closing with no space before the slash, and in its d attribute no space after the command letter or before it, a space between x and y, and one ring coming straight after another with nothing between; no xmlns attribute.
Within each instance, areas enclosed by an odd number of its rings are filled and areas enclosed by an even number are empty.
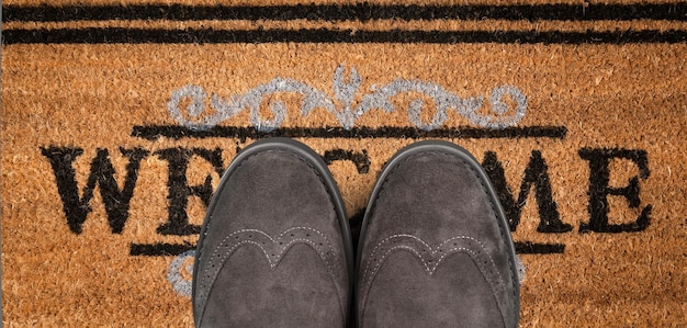
<svg viewBox="0 0 687 328"><path fill-rule="evenodd" d="M352 31L352 30L157 30L157 29L9 29L4 44L226 44L226 43L500 43L628 44L685 43L683 30L628 31Z"/></svg>

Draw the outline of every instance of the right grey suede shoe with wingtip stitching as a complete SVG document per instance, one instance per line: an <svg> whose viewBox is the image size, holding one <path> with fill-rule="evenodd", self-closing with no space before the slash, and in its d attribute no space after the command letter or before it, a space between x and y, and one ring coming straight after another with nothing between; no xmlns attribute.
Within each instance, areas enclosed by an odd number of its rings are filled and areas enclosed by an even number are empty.
<svg viewBox="0 0 687 328"><path fill-rule="evenodd" d="M515 247L477 161L443 142L401 150L370 197L358 249L359 327L517 327Z"/></svg>

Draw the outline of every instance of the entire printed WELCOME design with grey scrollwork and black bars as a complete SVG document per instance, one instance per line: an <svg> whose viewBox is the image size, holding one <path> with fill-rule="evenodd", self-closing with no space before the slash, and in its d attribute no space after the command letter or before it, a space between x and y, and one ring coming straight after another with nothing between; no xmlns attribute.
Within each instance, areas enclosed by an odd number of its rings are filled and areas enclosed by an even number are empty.
<svg viewBox="0 0 687 328"><path fill-rule="evenodd" d="M206 138L232 139L237 149L222 147L169 147L148 149L146 147L119 147L83 149L78 146L41 147L41 154L49 162L55 177L55 184L59 194L65 224L75 235L83 234L83 224L92 216L93 206L103 206L110 233L121 235L129 220L132 199L140 176L142 162L156 159L166 162L167 204L161 212L166 213L162 224L156 228L159 240L166 236L194 236L200 233L200 226L189 217L191 199L200 200L205 207L210 204L213 194L213 177L221 177L227 168L227 151L238 151L238 145L248 139L264 137L292 137L308 139L558 139L564 140L567 135L565 126L516 126L525 117L527 99L525 94L513 86L502 86L491 91L488 99L489 113L481 110L483 97L463 99L449 91L448 88L421 80L396 79L391 83L376 87L373 90L361 91L361 77L354 68L349 76L345 76L342 66L335 70L333 78L334 97L317 90L305 82L294 79L275 78L260 84L244 94L232 97L229 100L217 95L209 97L199 86L185 86L171 92L167 102L167 110L178 125L140 125L132 128L133 138L157 140L200 140ZM300 114L307 117L308 113L318 108L331 114L339 126L322 127L286 127L285 104L275 101L269 105L271 118L260 116L260 106L266 99L275 93L293 93L302 100ZM423 99L430 99L433 109L416 99L405 109L408 117L407 126L359 126L359 118L373 109L382 109L392 113L402 109L396 108L391 98L397 94L413 94ZM359 100L354 103L354 100ZM181 109L181 104L187 104ZM205 109L205 104L210 109ZM249 111L251 126L232 126L232 121L238 113ZM423 111L432 111L428 121L420 117ZM448 113L459 114L470 126L454 126L448 122ZM87 155L89 154L89 155ZM90 155L94 154L94 155ZM372 160L367 149L331 148L320 154L328 165L337 161L354 166L358 174L369 174ZM534 234L613 234L638 233L646 229L651 223L652 205L640 200L641 186L650 177L649 155L643 149L626 148L582 148L577 150L577 158L585 161L589 177L587 183L587 218L575 227L570 219L561 215L554 199L554 190L565 185L552 185L549 163L542 149L532 149L526 159L526 167L517 177L506 177L504 163L508 159L499 158L493 150L485 150L482 166L489 176L504 206L511 231L522 229L520 220L526 206L534 207L539 223ZM86 158L85 158L86 157ZM113 159L126 162L122 169L115 169ZM201 183L189 182L187 173L198 170L198 159L210 171L204 173ZM77 160L83 160L87 166L77 166ZM616 186L610 183L612 173L611 162L626 161L638 169L638 174L630 177L626 185ZM85 183L79 183L77 176L87 177ZM123 184L117 183L123 180ZM216 182L216 181L215 181ZM514 183L516 182L516 183ZM519 184L517 183L519 182ZM519 188L513 190L510 185ZM99 193L101 202L93 202ZM609 200L617 197L626 201L629 208L638 210L640 215L626 218L618 223L609 210ZM533 200L534 203L528 202ZM641 207L641 208L640 208ZM584 211L584 210L583 210ZM364 208L350 218L351 227L356 230L362 219ZM354 235L354 234L353 234ZM531 236L531 235L530 235ZM129 255L143 257L174 257L169 268L168 281L181 295L190 295L190 282L183 276L191 274L194 244L190 241L170 244L165 241L151 244L131 242ZM534 242L531 240L516 240L518 253L556 255L565 252L565 245L560 242ZM192 261L191 261L192 262Z"/></svg>

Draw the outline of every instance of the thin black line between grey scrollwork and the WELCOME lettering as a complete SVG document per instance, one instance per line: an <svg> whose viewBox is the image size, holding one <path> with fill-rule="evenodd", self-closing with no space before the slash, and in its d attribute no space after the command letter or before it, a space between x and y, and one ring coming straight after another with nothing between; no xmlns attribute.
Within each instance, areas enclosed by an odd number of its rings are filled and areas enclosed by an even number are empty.
<svg viewBox="0 0 687 328"><path fill-rule="evenodd" d="M246 139L258 139L264 137L288 137L288 138L394 138L394 139L418 139L418 138L553 138L563 139L567 129L565 126L523 126L506 127L500 129L458 127L437 128L424 131L415 127L281 127L271 132L260 132L257 128L240 126L215 126L207 131L194 131L179 125L153 125L134 126L133 137L155 140L160 137L183 139L183 138L235 138L245 142Z"/></svg>

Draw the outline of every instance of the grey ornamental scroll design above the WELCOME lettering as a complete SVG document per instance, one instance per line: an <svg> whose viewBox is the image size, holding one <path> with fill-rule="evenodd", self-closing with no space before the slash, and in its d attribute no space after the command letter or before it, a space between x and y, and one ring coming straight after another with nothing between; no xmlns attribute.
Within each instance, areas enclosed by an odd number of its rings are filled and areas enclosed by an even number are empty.
<svg viewBox="0 0 687 328"><path fill-rule="evenodd" d="M356 68L351 68L348 78L346 78L345 67L339 66L334 72L334 98L307 83L289 78L274 78L245 94L234 94L228 100L212 94L210 98L211 111L206 109L209 97L205 90L200 86L188 84L172 91L167 109L179 124L194 131L210 129L248 110L250 123L260 132L271 132L280 127L286 120L286 105L279 100L269 104L272 118L260 116L260 106L263 101L277 93L302 95L301 115L307 116L314 109L325 109L346 129L352 128L356 121L370 110L381 109L386 113L397 111L391 99L402 93L424 94L433 102L436 109L430 122L423 122L420 118L420 113L428 108L421 99L410 101L406 109L410 123L424 131L436 129L443 125L448 120L449 111L465 117L473 125L485 128L513 126L525 117L527 111L527 98L520 90L509 84L492 90L488 99L491 112L482 114L480 113L484 103L482 95L462 99L439 84L418 79L397 78L383 87L373 87L370 92L358 98L360 99L358 103L354 103L356 95L360 93L361 83L362 78ZM509 108L505 100L506 95L510 97L515 104L514 109ZM189 99L190 103L181 109L182 101L185 99Z"/></svg>

